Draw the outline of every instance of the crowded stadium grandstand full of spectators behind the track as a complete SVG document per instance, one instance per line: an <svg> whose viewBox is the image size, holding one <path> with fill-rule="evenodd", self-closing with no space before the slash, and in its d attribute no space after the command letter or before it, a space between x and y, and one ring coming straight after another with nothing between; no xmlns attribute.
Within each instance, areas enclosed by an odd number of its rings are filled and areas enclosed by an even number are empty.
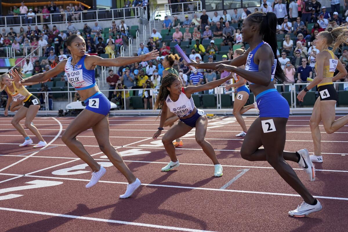
<svg viewBox="0 0 348 232"><path fill-rule="evenodd" d="M153 114L156 113L151 110L156 89L163 78L162 61L165 55L177 53L176 44L190 59L198 62L232 59L236 49L249 47L240 34L243 19L254 11L274 11L278 18L278 61L290 80L285 85L275 83L276 88L287 99L292 113L310 113L318 96L316 88L309 91L304 102L299 102L296 95L306 86L307 78L315 77L315 57L319 53L315 48L315 37L318 32L330 31L346 23L348 9L344 4L337 8L325 0L314 1L310 10L298 11L294 3L298 4L296 1L266 0L4 0L0 16L0 71L6 73L16 68L23 77L30 77L52 69L70 56L66 39L74 33L85 38L86 53L103 58L136 56L158 49L160 56L152 62L120 68L97 66L95 69L97 85L111 102L117 104L111 114ZM285 11L278 12L279 6L284 6ZM348 65L348 47L341 47L335 55ZM220 72L200 69L197 78L182 58L173 67L179 71L185 86L201 85L221 77ZM144 105L143 79L152 80L152 105L150 101ZM338 91L338 110L347 109L348 77L338 80L334 86ZM66 105L79 100L64 72L45 83L27 86L27 89L42 101L39 114L65 111ZM193 100L197 107L208 111L231 113L234 97L234 94L225 94L222 86L195 94ZM2 91L2 109L6 101L7 94ZM254 101L251 93L246 104Z"/></svg>

